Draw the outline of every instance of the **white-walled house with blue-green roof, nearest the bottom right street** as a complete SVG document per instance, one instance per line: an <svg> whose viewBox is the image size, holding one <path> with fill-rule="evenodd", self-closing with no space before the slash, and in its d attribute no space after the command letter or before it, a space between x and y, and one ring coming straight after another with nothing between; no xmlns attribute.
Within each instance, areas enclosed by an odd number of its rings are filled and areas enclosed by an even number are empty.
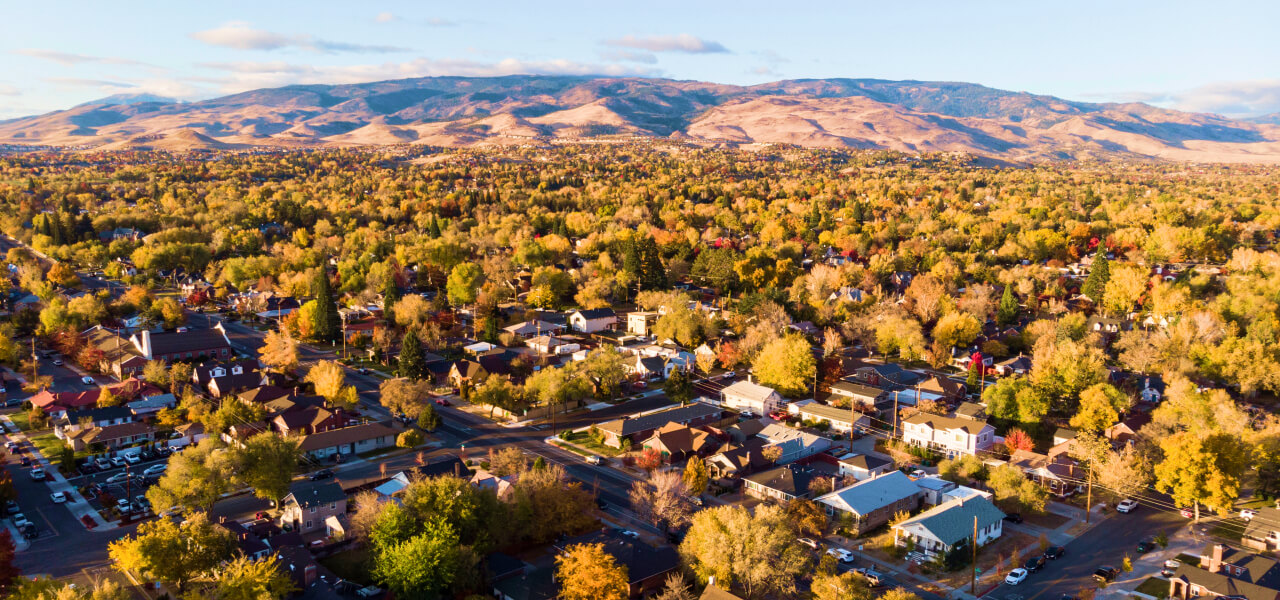
<svg viewBox="0 0 1280 600"><path fill-rule="evenodd" d="M977 541L982 548L1002 533L1005 513L983 496L948 500L893 527L893 542L914 542L915 551L927 557L946 554ZM978 539L974 537L977 521Z"/></svg>

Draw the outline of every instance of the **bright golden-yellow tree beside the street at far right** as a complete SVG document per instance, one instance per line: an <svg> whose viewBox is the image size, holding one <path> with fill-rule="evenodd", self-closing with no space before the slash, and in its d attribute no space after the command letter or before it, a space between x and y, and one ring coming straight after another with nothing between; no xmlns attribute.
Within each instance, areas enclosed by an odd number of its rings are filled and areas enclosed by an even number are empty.
<svg viewBox="0 0 1280 600"><path fill-rule="evenodd" d="M1160 441L1165 459L1156 464L1156 489L1179 507L1204 504L1226 516L1240 494L1249 466L1248 446L1239 438L1212 434L1204 438L1180 431Z"/></svg>

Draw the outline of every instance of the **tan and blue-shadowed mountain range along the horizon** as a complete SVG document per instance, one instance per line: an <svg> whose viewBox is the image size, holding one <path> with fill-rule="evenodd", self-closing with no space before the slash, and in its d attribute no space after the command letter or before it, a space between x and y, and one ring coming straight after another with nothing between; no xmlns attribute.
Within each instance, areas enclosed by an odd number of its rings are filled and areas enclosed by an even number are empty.
<svg viewBox="0 0 1280 600"><path fill-rule="evenodd" d="M253 90L196 102L114 96L0 122L0 143L99 150L489 146L632 136L700 145L968 152L1014 161L1280 162L1280 118L1235 120L974 83L426 77Z"/></svg>

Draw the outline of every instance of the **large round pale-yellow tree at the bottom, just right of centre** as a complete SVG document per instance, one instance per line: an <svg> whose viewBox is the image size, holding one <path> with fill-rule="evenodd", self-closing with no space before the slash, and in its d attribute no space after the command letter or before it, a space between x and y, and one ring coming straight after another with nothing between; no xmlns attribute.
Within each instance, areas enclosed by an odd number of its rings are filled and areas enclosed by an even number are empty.
<svg viewBox="0 0 1280 600"><path fill-rule="evenodd" d="M737 505L699 510L680 554L699 580L716 577L719 586L749 597L790 596L795 578L808 571L795 528L782 508L768 504L756 507L754 516Z"/></svg>

